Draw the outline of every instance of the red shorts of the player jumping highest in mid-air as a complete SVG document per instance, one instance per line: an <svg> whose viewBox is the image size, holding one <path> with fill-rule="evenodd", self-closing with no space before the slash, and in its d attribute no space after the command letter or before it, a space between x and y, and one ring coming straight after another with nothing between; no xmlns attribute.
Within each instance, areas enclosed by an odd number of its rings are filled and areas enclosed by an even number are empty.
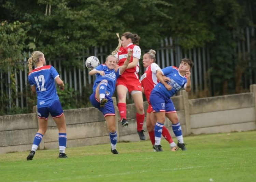
<svg viewBox="0 0 256 182"><path fill-rule="evenodd" d="M116 86L118 85L125 86L128 89L129 93L131 93L131 91L133 90L142 91L141 82L137 73L124 72L116 80Z"/></svg>

